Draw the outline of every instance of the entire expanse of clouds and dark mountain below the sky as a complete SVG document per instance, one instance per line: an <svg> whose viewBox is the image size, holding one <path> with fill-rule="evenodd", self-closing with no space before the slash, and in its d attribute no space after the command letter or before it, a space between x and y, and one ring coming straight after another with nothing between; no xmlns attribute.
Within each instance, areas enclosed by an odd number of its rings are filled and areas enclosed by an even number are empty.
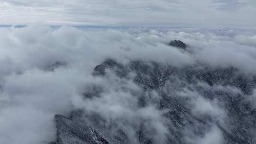
<svg viewBox="0 0 256 144"><path fill-rule="evenodd" d="M0 34L0 144L256 144L253 30Z"/></svg>

